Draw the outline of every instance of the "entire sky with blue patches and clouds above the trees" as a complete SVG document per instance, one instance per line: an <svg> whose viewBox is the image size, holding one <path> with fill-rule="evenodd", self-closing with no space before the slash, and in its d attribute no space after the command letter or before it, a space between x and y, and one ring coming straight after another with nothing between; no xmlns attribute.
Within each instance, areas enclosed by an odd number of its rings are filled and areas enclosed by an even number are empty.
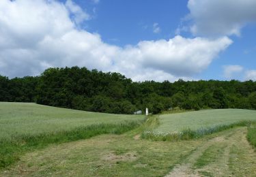
<svg viewBox="0 0 256 177"><path fill-rule="evenodd" d="M256 80L255 0L1 0L0 75Z"/></svg>

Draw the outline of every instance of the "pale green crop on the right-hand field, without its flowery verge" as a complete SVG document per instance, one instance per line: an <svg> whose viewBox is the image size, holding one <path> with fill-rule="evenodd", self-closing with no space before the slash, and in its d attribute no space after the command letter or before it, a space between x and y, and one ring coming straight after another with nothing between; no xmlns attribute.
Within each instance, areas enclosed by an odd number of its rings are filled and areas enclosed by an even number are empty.
<svg viewBox="0 0 256 177"><path fill-rule="evenodd" d="M240 121L256 121L256 111L238 109L201 110L178 114L164 114L160 115L159 120L160 126L155 131L169 133L184 129L197 130L219 125L231 125Z"/></svg>

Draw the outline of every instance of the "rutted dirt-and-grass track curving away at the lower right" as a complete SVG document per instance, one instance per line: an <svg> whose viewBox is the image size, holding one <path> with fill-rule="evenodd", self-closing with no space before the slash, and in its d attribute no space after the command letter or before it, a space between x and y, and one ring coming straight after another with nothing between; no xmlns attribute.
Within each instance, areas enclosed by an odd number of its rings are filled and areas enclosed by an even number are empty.
<svg viewBox="0 0 256 177"><path fill-rule="evenodd" d="M246 128L233 129L197 147L167 176L256 176L256 153Z"/></svg>

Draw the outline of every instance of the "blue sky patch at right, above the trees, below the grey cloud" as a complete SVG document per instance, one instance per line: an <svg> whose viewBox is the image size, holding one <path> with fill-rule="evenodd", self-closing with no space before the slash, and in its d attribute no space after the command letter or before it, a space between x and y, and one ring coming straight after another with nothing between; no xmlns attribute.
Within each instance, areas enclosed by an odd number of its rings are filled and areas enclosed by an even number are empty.
<svg viewBox="0 0 256 177"><path fill-rule="evenodd" d="M233 44L219 54L212 64L203 71L199 78L205 80L218 79L229 80L223 76L223 66L241 65L246 69L256 69L256 25L248 25L242 29L240 37L231 37ZM233 79L244 80L242 74L232 77ZM251 78L255 80L256 78Z"/></svg>

